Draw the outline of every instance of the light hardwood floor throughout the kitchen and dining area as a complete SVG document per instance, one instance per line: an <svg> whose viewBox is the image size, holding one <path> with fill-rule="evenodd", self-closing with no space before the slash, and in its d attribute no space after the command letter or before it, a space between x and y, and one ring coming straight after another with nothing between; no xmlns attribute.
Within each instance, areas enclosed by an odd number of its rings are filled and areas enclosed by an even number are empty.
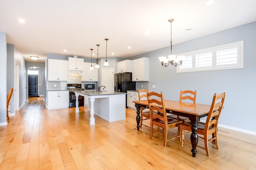
<svg viewBox="0 0 256 170"><path fill-rule="evenodd" d="M149 139L149 128L136 128L136 111L126 109L126 120L107 122L95 115L89 125L88 107L47 110L42 97L29 101L0 127L0 170L36 169L256 169L256 136L219 128L219 150L210 157L174 139L163 146L163 136ZM168 131L177 134L177 128ZM185 139L190 140L190 134ZM204 145L199 139L198 144Z"/></svg>

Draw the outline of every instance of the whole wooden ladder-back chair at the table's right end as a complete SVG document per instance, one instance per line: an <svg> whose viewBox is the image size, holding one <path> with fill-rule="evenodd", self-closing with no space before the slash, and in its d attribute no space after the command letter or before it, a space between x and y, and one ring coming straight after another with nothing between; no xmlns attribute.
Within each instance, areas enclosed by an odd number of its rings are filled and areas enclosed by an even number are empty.
<svg viewBox="0 0 256 170"><path fill-rule="evenodd" d="M217 128L218 128L218 121L220 118L220 113L222 111L225 96L226 96L226 93L221 93L219 95L216 95L215 93L212 99L212 105L210 107L210 111L207 116L206 123L198 122L197 134L203 135L198 137L204 139L204 147L202 146L198 146L198 147L205 149L207 156L209 156L208 142L214 141L213 144L215 144L216 149L218 149ZM191 127L192 127L191 122L185 122L180 125L179 132L180 132L181 145L183 145L183 142L186 141L184 140L184 130L192 131ZM209 135L211 135L212 138L209 139L208 138Z"/></svg>

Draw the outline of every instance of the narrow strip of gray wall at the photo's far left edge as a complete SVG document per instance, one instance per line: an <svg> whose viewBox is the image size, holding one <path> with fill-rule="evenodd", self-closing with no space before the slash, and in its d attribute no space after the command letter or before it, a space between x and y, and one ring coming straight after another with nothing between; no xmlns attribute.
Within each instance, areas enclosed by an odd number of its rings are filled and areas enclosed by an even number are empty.
<svg viewBox="0 0 256 170"><path fill-rule="evenodd" d="M6 45L6 33L0 32L0 79L2 91L0 92L0 125L6 125L6 73L7 73L7 45Z"/></svg>

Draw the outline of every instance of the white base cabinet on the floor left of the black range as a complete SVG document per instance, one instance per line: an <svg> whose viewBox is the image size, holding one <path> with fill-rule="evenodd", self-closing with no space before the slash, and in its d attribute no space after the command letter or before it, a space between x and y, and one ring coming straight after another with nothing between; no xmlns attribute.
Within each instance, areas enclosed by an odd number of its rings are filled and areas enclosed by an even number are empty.
<svg viewBox="0 0 256 170"><path fill-rule="evenodd" d="M69 107L69 91L48 91L48 109Z"/></svg>

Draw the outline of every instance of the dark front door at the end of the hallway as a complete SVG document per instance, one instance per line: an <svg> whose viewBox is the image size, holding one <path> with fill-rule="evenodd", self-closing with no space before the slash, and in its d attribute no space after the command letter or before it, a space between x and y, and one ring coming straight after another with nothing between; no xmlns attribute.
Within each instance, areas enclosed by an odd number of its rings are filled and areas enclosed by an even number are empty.
<svg viewBox="0 0 256 170"><path fill-rule="evenodd" d="M38 97L38 75L28 75L28 97Z"/></svg>

